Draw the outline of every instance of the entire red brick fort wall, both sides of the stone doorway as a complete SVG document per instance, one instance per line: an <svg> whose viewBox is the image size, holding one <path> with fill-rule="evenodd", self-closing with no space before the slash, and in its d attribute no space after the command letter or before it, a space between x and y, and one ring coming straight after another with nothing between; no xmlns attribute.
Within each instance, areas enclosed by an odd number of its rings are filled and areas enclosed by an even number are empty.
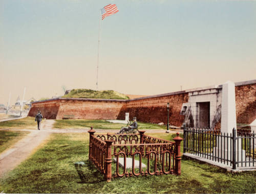
<svg viewBox="0 0 256 194"><path fill-rule="evenodd" d="M245 82L246 83L246 82ZM38 109L48 119L62 119L73 115L74 119L122 119L125 112L138 121L159 123L167 121L166 103L170 103L170 124L181 126L182 103L188 101L188 92L180 91L130 100L56 98L32 103L29 116ZM256 80L250 84L236 84L236 109L238 123L251 123L256 119Z"/></svg>

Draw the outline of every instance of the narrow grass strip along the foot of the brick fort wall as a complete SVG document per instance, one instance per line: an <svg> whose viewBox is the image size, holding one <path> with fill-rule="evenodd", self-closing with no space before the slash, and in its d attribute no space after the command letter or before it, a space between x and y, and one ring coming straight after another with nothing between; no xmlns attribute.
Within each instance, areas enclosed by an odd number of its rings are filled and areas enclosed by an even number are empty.
<svg viewBox="0 0 256 194"><path fill-rule="evenodd" d="M151 123L142 123L138 122L139 130L142 129L154 129L154 130L162 130L166 129L166 126L161 126L158 124ZM120 130L122 126L126 126L123 123L112 123L106 120L84 120L84 119L64 119L64 120L56 120L54 123L54 128L101 128L103 130Z"/></svg>

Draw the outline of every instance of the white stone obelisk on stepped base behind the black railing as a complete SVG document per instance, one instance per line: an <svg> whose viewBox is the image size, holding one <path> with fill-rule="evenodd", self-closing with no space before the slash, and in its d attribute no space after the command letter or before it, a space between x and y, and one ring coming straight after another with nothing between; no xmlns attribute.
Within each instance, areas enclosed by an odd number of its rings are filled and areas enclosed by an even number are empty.
<svg viewBox="0 0 256 194"><path fill-rule="evenodd" d="M221 132L222 135L230 136L232 134L233 128L237 129L237 116L236 116L236 95L234 90L234 83L231 81L227 81L222 85L222 101L221 101ZM236 134L237 135L237 134ZM222 145L221 145L221 138L217 139L216 145L217 147L214 148L213 156L221 157L228 160L232 159L232 140L231 138L228 138L228 144L227 144L227 138L225 138L225 147L224 147L224 138L222 138ZM218 147L218 145L220 147ZM242 156L241 156L242 154ZM236 161L245 161L245 150L242 149L241 145L241 139L239 141L236 141ZM230 163L228 162L228 165ZM239 164L239 166L241 163Z"/></svg>

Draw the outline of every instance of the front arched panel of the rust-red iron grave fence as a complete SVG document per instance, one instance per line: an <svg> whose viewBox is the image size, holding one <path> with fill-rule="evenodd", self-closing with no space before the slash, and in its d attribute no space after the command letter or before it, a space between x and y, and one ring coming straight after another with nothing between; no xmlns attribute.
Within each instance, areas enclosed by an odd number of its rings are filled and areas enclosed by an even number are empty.
<svg viewBox="0 0 256 194"><path fill-rule="evenodd" d="M124 158L122 174L119 173L120 156ZM117 161L114 177L174 174L175 143L114 144L114 157ZM126 166L128 157L132 158L131 169ZM138 169L136 159L139 161ZM142 167L142 162L146 167Z"/></svg>

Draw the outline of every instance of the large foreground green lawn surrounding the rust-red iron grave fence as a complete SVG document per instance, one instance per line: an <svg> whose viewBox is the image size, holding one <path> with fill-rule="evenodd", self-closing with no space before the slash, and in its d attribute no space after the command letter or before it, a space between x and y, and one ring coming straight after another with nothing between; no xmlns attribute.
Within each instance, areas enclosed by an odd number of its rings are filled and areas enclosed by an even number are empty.
<svg viewBox="0 0 256 194"><path fill-rule="evenodd" d="M172 139L174 135L158 136ZM89 135L52 134L49 142L0 180L16 193L255 193L256 172L238 174L182 159L181 176L117 178L107 183L88 161ZM75 162L84 161L79 168ZM81 174L83 176L81 176ZM79 177L80 175L80 177Z"/></svg>

